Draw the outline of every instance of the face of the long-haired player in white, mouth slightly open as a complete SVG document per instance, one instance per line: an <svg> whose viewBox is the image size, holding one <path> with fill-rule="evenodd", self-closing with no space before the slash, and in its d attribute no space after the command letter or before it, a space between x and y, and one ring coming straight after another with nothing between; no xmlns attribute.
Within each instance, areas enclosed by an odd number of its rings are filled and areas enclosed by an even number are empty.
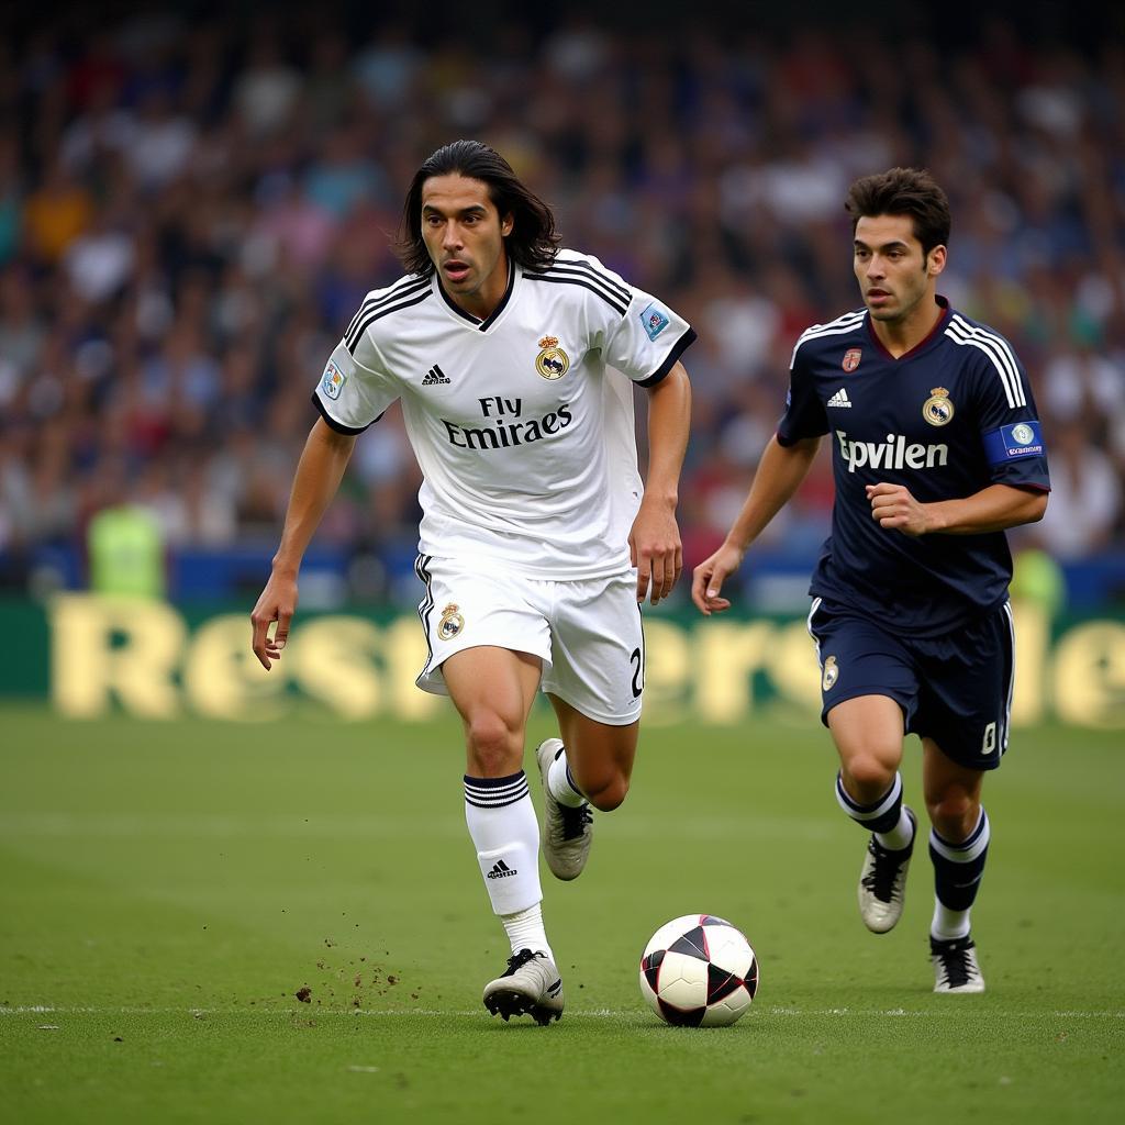
<svg viewBox="0 0 1125 1125"><path fill-rule="evenodd" d="M422 184L422 237L446 291L462 308L487 316L507 288L504 238L512 216L501 215L488 184L465 176L431 176Z"/></svg>

